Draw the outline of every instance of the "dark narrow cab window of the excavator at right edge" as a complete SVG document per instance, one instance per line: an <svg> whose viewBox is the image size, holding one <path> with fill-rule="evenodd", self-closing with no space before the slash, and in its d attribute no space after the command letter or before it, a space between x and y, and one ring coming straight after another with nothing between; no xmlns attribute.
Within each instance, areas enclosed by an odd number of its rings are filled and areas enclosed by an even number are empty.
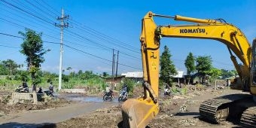
<svg viewBox="0 0 256 128"><path fill-rule="evenodd" d="M252 42L252 61L251 61L251 74L252 84L256 86L256 39Z"/></svg>

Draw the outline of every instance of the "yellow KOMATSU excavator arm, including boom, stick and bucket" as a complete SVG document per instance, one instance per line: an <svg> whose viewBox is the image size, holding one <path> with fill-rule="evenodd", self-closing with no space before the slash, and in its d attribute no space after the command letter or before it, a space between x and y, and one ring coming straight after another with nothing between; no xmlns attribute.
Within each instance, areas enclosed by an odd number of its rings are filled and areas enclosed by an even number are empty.
<svg viewBox="0 0 256 128"><path fill-rule="evenodd" d="M167 17L174 20L195 23L193 25L157 26L153 17ZM123 127L145 127L158 114L158 84L160 66L160 38L202 38L221 41L227 45L230 58L243 81L243 89L250 85L251 45L236 26L221 20L202 20L191 17L169 17L148 12L142 19L140 36L144 96L129 99L122 105ZM236 57L241 60L239 66ZM256 89L251 87L256 94Z"/></svg>

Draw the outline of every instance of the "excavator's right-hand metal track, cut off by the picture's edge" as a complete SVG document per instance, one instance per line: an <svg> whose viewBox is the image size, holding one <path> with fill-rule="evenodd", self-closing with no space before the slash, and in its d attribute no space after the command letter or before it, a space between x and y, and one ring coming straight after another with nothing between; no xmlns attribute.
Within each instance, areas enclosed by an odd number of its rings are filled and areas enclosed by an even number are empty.
<svg viewBox="0 0 256 128"><path fill-rule="evenodd" d="M256 127L256 107L246 109L240 120L242 127Z"/></svg>

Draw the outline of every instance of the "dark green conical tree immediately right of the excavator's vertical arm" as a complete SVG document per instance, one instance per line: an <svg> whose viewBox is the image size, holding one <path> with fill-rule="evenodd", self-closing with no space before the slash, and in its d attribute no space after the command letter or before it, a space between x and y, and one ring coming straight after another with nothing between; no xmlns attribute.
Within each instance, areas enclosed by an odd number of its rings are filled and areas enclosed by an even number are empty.
<svg viewBox="0 0 256 128"><path fill-rule="evenodd" d="M171 56L169 48L164 46L163 53L160 56L160 81L163 81L166 84L171 84L172 76L177 75Z"/></svg>

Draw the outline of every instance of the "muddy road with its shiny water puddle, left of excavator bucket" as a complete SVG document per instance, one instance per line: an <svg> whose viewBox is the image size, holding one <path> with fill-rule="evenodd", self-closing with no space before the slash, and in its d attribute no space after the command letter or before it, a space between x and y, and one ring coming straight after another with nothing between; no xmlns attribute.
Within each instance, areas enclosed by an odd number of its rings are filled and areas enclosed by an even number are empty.
<svg viewBox="0 0 256 128"><path fill-rule="evenodd" d="M8 114L0 118L0 127L17 128L28 127L34 128L42 126L45 123L58 123L69 120L72 117L87 115L101 108L108 108L113 105L120 105L117 97L111 102L104 102L99 96L84 96L82 94L68 93L56 94L59 98L75 101L70 105L60 108L51 108L37 111L23 111L20 113Z"/></svg>

